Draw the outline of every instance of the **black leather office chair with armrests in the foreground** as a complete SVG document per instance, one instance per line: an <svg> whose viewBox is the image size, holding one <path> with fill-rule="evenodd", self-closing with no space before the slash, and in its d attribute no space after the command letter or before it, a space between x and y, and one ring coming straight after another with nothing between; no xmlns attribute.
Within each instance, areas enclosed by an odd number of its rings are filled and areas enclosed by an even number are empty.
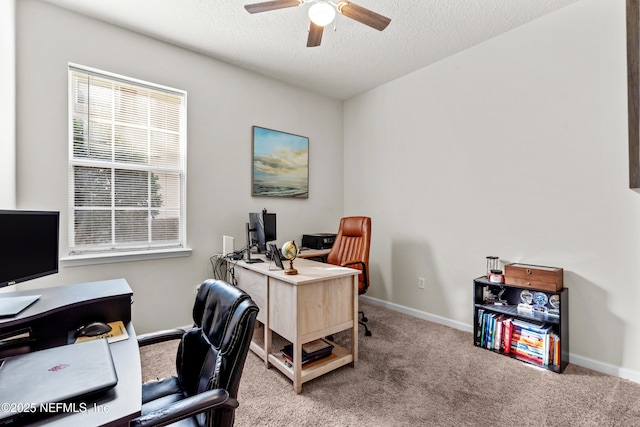
<svg viewBox="0 0 640 427"><path fill-rule="evenodd" d="M178 375L142 385L142 415L129 425L232 426L257 314L244 291L206 280L198 289L191 330L139 336L140 346L180 339Z"/></svg>

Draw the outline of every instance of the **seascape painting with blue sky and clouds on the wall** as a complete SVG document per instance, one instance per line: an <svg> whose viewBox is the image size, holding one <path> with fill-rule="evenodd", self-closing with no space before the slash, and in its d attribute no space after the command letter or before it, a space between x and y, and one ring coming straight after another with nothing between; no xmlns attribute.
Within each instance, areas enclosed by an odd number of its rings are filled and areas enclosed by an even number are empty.
<svg viewBox="0 0 640 427"><path fill-rule="evenodd" d="M251 135L251 195L309 198L309 138L260 126Z"/></svg>

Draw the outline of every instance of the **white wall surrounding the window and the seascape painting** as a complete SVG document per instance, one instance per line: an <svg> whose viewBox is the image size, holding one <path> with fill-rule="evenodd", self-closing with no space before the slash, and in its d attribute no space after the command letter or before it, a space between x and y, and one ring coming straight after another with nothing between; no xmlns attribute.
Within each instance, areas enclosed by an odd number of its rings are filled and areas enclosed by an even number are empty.
<svg viewBox="0 0 640 427"><path fill-rule="evenodd" d="M17 206L61 211L68 248L67 64L188 92L187 258L63 267L22 287L124 277L138 332L191 322L224 234L245 242L248 213L278 215L278 241L332 231L342 215L342 103L35 0L17 5ZM310 138L309 199L251 197L251 126Z"/></svg>

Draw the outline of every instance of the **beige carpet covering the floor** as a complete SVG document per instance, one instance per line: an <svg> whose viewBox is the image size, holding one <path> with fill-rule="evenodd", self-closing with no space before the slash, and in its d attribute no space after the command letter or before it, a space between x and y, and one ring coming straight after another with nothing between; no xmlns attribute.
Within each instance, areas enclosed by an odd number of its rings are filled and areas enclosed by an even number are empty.
<svg viewBox="0 0 640 427"><path fill-rule="evenodd" d="M361 301L359 360L295 394L251 351L236 426L640 426L640 384L562 374L473 346L472 335ZM336 336L341 342L347 336ZM175 343L142 349L143 380L174 375Z"/></svg>

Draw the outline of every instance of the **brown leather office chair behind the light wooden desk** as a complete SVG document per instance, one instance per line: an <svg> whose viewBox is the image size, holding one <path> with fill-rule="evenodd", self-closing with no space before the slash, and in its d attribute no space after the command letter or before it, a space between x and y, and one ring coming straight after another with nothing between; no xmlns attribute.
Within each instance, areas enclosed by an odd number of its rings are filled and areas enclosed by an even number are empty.
<svg viewBox="0 0 640 427"><path fill-rule="evenodd" d="M343 267L357 268L362 271L358 275L358 294L362 295L369 288L369 247L371 246L371 218L367 216L349 216L340 220L340 228L336 240L327 255L327 262ZM367 327L367 318L359 311L358 323L364 326L365 335L371 336Z"/></svg>

